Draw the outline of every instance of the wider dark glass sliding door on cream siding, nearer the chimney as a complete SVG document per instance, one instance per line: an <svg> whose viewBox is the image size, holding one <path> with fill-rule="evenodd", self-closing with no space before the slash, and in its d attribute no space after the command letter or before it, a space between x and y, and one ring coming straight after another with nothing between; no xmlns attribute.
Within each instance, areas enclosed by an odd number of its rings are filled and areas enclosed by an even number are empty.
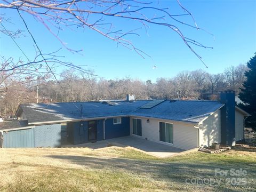
<svg viewBox="0 0 256 192"><path fill-rule="evenodd" d="M159 140L173 143L173 124L159 122Z"/></svg>

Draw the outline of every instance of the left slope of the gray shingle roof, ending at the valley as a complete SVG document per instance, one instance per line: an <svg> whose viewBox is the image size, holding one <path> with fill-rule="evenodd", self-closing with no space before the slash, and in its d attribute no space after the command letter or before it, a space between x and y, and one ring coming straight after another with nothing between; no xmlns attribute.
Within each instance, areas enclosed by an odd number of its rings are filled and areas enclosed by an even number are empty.
<svg viewBox="0 0 256 192"><path fill-rule="evenodd" d="M148 102L143 101L103 101L103 102L66 102L22 104L28 122L61 121L93 117L129 115L138 107ZM82 113L81 113L82 106Z"/></svg>

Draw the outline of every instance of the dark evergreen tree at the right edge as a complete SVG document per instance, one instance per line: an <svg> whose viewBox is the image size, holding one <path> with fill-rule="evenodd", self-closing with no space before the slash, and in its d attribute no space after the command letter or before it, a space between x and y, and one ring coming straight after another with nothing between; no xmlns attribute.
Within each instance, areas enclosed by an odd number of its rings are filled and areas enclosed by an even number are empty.
<svg viewBox="0 0 256 192"><path fill-rule="evenodd" d="M256 130L256 53L254 57L247 62L248 71L245 72L246 81L243 83L244 88L241 89L239 98L244 102L244 105L239 107L246 110L252 116L247 118L246 126Z"/></svg>

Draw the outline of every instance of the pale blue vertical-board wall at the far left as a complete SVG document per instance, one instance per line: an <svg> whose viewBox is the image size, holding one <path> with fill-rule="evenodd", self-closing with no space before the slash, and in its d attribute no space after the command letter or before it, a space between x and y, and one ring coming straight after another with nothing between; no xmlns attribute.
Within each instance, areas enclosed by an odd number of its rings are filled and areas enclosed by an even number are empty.
<svg viewBox="0 0 256 192"><path fill-rule="evenodd" d="M3 147L34 147L34 128L6 131L3 133Z"/></svg>

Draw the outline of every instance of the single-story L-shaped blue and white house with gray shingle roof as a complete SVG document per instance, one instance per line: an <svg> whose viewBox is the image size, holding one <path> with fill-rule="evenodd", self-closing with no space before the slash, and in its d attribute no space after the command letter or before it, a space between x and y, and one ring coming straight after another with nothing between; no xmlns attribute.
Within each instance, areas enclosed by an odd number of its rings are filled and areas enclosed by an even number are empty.
<svg viewBox="0 0 256 192"><path fill-rule="evenodd" d="M235 106L234 92L226 91L220 101L127 95L126 100L22 104L16 116L23 122L17 129L0 124L2 147L57 147L64 137L77 145L131 135L187 150L243 140L250 115Z"/></svg>

